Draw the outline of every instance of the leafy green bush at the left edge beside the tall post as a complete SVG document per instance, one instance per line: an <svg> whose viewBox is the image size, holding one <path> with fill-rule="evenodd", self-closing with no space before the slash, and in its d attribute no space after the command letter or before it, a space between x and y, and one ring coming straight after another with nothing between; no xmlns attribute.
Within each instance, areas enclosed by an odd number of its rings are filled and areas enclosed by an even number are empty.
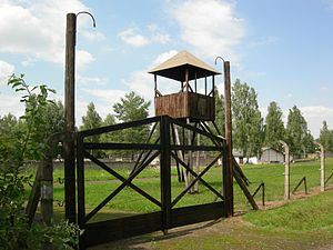
<svg viewBox="0 0 333 250"><path fill-rule="evenodd" d="M30 228L24 212L24 190L32 176L27 177L21 170L26 159L42 158L44 137L56 128L49 126L50 119L58 119L54 102L48 99L49 92L54 91L44 84L30 87L23 74L12 76L8 84L16 92L22 92L20 101L26 112L19 121L11 114L0 119L0 249L43 249L43 243L51 243L56 249L72 249L77 243L77 227L60 223Z"/></svg>

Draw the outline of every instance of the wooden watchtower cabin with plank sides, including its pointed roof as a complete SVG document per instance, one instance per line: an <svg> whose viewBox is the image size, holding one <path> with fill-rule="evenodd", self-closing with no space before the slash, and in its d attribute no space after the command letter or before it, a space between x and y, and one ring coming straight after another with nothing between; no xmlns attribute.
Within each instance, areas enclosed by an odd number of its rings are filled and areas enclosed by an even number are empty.
<svg viewBox="0 0 333 250"><path fill-rule="evenodd" d="M220 74L214 68L188 51L181 51L149 73L154 74L155 116L167 114L190 121L214 121L215 76ZM179 92L162 94L158 89L158 76L179 81ZM200 89L203 93L199 92L199 79L204 82L204 90Z"/></svg>

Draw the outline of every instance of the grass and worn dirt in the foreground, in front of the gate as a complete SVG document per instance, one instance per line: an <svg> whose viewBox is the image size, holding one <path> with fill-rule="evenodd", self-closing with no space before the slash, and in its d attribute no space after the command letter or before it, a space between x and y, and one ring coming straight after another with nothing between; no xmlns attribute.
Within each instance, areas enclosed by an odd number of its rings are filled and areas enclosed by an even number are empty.
<svg viewBox="0 0 333 250"><path fill-rule="evenodd" d="M333 191L218 221L97 246L109 249L333 249Z"/></svg>

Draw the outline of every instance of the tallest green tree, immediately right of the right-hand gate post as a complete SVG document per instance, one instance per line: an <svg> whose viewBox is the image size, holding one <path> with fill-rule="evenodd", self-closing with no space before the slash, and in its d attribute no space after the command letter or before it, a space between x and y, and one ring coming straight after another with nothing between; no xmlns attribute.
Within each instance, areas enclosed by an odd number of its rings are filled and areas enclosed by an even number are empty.
<svg viewBox="0 0 333 250"><path fill-rule="evenodd" d="M232 87L233 148L244 157L258 156L263 140L263 119L256 93L246 83L236 79Z"/></svg>

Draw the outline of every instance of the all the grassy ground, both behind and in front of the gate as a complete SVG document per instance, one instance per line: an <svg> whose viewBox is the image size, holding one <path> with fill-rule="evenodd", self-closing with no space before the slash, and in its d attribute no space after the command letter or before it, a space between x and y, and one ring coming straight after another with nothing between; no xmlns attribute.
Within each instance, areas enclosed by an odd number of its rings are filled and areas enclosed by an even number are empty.
<svg viewBox="0 0 333 250"><path fill-rule="evenodd" d="M242 169L251 181L252 193L261 182L264 182L266 201L283 200L283 164L246 164L242 166ZM130 173L128 169L122 168L117 171L123 177ZM326 177L332 172L333 159L326 159ZM172 199L174 199L184 189L184 183L178 182L175 168L172 168L171 173ZM216 190L221 190L221 167L213 167L203 179ZM320 161L291 164L291 190L303 177L306 177L310 194L314 193L320 186ZM54 199L63 200L63 184L58 182L59 178L63 178L63 169L57 167ZM84 181L87 212L98 206L120 183L104 170L87 168ZM160 200L158 168L144 169L133 183ZM329 189L332 189L332 184L333 179L329 182ZM199 190L196 194L185 194L175 207L215 200L215 196L202 184ZM297 192L304 193L302 186ZM260 194L256 197L258 203L261 202ZM236 214L242 216L172 229L168 236L154 232L99 246L95 249L333 249L333 191L305 196L304 199L287 202L279 208L253 211L234 182L234 201ZM93 217L92 221L159 211L159 209L128 187ZM63 207L54 204L54 211L57 217L63 216Z"/></svg>

